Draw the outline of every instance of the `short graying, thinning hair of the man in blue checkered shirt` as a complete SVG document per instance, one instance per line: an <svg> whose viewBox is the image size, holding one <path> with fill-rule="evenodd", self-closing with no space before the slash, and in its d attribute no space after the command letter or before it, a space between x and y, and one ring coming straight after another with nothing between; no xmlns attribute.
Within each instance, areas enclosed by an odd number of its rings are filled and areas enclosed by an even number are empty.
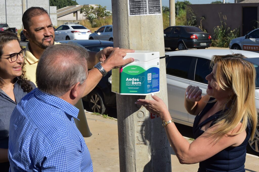
<svg viewBox="0 0 259 172"><path fill-rule="evenodd" d="M60 97L86 80L89 53L74 45L56 44L45 49L36 70L38 89Z"/></svg>

